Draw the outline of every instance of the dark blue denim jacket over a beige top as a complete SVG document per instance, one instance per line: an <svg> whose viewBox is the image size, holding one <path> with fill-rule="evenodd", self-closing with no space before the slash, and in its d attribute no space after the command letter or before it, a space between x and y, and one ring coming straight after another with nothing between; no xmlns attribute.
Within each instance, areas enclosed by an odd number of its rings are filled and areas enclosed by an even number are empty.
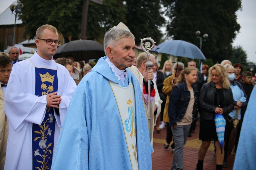
<svg viewBox="0 0 256 170"><path fill-rule="evenodd" d="M192 85L194 90L195 103L193 107L193 121L197 119L197 95L198 90L195 85ZM174 126L176 121L181 121L187 111L187 107L190 101L190 91L187 88L186 81L174 86L168 106L169 125Z"/></svg>

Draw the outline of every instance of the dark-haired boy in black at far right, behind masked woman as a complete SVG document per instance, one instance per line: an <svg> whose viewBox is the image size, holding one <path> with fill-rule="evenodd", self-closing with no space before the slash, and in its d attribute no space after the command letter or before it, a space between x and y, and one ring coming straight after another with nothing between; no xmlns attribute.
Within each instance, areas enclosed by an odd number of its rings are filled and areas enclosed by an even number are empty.
<svg viewBox="0 0 256 170"><path fill-rule="evenodd" d="M253 91L253 87L254 87L252 84L252 73L250 71L244 71L242 73L242 79L240 83L243 85L243 89L247 95L247 100L249 101L251 93ZM246 107L247 106L241 108L241 120L243 120L244 118Z"/></svg>

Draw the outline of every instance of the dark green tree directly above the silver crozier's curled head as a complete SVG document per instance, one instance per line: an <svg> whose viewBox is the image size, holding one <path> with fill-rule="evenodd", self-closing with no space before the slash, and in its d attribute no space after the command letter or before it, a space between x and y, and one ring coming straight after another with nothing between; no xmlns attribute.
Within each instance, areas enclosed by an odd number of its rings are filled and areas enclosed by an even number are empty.
<svg viewBox="0 0 256 170"><path fill-rule="evenodd" d="M126 1L126 26L135 36L136 45L140 39L151 37L156 44L161 43L160 27L165 23L161 16L160 0L129 0Z"/></svg>

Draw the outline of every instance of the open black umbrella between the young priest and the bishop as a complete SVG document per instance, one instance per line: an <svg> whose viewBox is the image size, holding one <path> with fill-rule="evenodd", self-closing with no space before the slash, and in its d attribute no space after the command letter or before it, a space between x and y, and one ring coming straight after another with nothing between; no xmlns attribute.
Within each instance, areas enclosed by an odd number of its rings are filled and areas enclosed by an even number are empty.
<svg viewBox="0 0 256 170"><path fill-rule="evenodd" d="M58 47L54 59L72 55L75 61L99 59L105 56L104 47L93 40L75 40Z"/></svg>

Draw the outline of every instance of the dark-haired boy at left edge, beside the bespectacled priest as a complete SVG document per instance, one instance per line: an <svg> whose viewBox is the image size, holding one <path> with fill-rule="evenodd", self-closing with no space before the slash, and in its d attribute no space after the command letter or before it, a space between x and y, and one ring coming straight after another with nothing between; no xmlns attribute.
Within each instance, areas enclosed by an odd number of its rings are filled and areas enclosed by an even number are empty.
<svg viewBox="0 0 256 170"><path fill-rule="evenodd" d="M4 167L8 138L8 119L4 113L4 95L11 71L11 58L7 53L0 53L0 170Z"/></svg>

